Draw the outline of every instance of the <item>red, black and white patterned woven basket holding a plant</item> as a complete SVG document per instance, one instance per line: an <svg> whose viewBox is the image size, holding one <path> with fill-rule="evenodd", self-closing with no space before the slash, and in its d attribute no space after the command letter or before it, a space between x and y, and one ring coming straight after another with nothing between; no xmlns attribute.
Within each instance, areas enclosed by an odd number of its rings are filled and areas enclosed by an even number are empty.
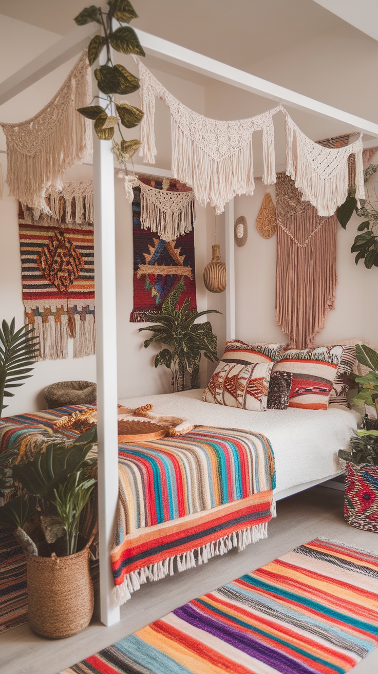
<svg viewBox="0 0 378 674"><path fill-rule="evenodd" d="M378 466L346 462L344 518L351 526L378 533Z"/></svg>

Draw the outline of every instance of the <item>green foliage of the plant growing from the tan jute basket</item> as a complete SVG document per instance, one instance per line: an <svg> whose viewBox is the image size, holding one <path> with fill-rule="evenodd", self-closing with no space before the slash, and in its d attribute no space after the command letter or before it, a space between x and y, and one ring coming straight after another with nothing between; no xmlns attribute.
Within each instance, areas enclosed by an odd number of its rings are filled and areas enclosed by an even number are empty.
<svg viewBox="0 0 378 674"><path fill-rule="evenodd" d="M96 459L88 457L96 439L96 427L74 442L67 442L62 436L61 443L47 441L32 460L24 463L8 450L8 470L13 485L18 485L22 493L1 506L0 527L14 527L15 537L30 554L38 554L36 544L42 535L47 554L76 552L80 516L96 484L92 475ZM25 530L34 516L38 516L42 528L36 541ZM62 537L63 541L59 540ZM50 543L55 541L57 546L51 549Z"/></svg>

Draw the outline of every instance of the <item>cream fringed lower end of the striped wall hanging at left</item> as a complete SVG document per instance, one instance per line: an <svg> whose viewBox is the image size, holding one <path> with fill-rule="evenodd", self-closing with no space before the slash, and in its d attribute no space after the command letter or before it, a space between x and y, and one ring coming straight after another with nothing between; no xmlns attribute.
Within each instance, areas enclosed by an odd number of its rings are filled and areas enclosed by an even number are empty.
<svg viewBox="0 0 378 674"><path fill-rule="evenodd" d="M79 314L72 316L73 357L82 358L96 353L96 328L94 315L87 314L85 320ZM26 324L30 324L26 317ZM55 316L35 316L32 326L40 343L40 361L57 361L68 356L68 340L70 338L69 316L61 315L59 321Z"/></svg>

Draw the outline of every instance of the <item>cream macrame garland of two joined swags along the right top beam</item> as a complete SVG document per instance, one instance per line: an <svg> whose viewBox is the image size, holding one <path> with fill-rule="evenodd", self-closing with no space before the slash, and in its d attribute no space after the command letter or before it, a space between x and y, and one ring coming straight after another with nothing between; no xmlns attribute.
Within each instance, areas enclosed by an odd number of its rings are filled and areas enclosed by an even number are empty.
<svg viewBox="0 0 378 674"><path fill-rule="evenodd" d="M193 112L152 75L140 59L141 150L144 162L155 163L155 98L170 109L172 123L172 175L193 188L201 206L210 203L216 213L237 194L253 194L253 131L263 131L263 183L276 182L273 115L284 113L286 173L303 193L303 200L329 217L348 195L348 157L356 158L356 200L365 199L361 137L343 148L326 148L310 140L279 105L257 117L218 121Z"/></svg>

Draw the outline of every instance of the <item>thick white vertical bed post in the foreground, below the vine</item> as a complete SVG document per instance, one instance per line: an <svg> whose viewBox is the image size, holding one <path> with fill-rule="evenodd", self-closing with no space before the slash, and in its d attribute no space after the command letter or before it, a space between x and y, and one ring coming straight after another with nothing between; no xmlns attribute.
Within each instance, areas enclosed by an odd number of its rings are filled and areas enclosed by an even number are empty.
<svg viewBox="0 0 378 674"><path fill-rule="evenodd" d="M108 626L120 618L119 607L112 603L114 581L110 564L119 489L115 189L111 141L99 140L93 131L93 144L100 610L101 621Z"/></svg>

